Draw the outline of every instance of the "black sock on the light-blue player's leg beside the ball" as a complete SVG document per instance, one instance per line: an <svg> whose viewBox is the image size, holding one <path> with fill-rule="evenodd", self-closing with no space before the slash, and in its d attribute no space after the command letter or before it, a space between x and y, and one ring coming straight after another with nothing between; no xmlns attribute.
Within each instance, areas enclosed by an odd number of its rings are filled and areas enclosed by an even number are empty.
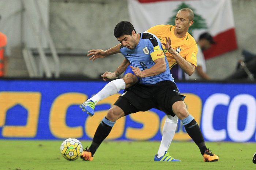
<svg viewBox="0 0 256 170"><path fill-rule="evenodd" d="M102 121L101 121L101 123L99 123L99 126L94 134L94 137L93 137L93 142L91 143L91 146L89 147L89 149L91 151L91 155L95 154L99 145L101 145L101 142L103 142L104 139L109 135L111 129L112 129L112 126L109 126L108 124L106 124Z"/></svg>

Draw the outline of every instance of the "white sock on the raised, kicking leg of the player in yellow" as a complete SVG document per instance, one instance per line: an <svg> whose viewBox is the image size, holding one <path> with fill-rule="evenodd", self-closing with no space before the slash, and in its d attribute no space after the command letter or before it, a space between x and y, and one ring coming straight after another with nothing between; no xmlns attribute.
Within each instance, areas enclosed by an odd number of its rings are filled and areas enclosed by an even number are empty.
<svg viewBox="0 0 256 170"><path fill-rule="evenodd" d="M118 91L125 89L125 82L123 79L116 79L104 86L101 91L91 97L89 100L93 100L93 102L98 102L102 99L105 99L108 96L116 94ZM96 103L95 103L96 104Z"/></svg>

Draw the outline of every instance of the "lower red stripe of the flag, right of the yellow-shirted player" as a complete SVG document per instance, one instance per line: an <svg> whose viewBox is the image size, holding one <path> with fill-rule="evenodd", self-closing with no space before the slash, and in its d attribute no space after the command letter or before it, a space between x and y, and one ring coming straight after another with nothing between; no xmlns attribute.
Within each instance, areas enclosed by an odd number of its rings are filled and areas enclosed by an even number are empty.
<svg viewBox="0 0 256 170"><path fill-rule="evenodd" d="M205 59L210 59L215 56L237 49L236 33L234 28L219 33L213 38L216 44L212 44L211 48L204 51Z"/></svg>

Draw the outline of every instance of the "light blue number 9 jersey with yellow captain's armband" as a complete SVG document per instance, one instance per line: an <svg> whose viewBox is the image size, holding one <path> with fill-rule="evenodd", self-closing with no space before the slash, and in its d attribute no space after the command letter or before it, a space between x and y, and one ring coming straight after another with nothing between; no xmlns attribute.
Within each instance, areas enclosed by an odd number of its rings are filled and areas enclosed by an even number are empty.
<svg viewBox="0 0 256 170"><path fill-rule="evenodd" d="M120 47L120 52L129 60L133 67L139 67L140 70L149 69L155 65L154 60L165 58L166 70L159 75L140 78L141 84L156 84L163 80L173 81L169 71L169 64L162 50L162 44L159 39L150 33L140 33L140 41L134 49L129 49L124 46Z"/></svg>

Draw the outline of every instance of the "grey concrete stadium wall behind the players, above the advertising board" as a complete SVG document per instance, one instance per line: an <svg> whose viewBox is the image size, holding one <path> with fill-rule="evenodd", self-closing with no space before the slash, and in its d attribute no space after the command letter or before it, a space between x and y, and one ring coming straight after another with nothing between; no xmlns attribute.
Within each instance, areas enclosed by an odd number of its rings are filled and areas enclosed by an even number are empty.
<svg viewBox="0 0 256 170"><path fill-rule="evenodd" d="M26 12L30 12L30 20L33 20L42 46L48 47L41 28L42 22L38 19L36 11L32 10L35 8L34 1L25 0L27 11L22 10L24 5L21 2L22 0L0 0L0 29L8 37L7 55L10 56L8 77L28 76L22 48L25 45L35 48L36 43ZM123 56L114 55L92 63L84 54L90 49L105 50L118 43L113 36L114 25L121 20L131 21L127 0L42 0L38 3L60 56L61 75L98 78L99 74L105 71L114 71L123 61ZM238 48L206 60L208 74L217 80L223 80L235 71L237 61L242 57L242 49L256 53L256 34L253 29L256 28L253 18L256 15L256 1L231 0L231 3ZM226 20L221 20L219 27L225 22ZM34 55L37 59L38 52ZM52 59L48 59L49 67L53 70Z"/></svg>

